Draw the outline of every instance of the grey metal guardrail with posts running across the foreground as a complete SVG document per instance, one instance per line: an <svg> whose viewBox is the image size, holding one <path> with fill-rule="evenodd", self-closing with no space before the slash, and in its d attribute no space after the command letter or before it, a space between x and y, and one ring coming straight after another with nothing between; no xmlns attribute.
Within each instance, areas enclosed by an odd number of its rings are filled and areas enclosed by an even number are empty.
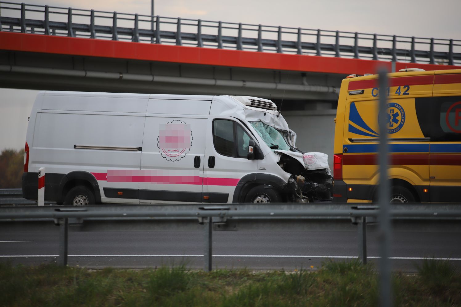
<svg viewBox="0 0 461 307"><path fill-rule="evenodd" d="M300 225L333 222L340 224L350 220L357 224L358 258L366 263L366 223L375 222L379 210L376 206L351 205L304 205L304 204L230 204L229 206L200 205L112 205L86 207L3 207L0 208L2 227L8 222L33 221L51 223L60 227L59 263L67 264L69 224L103 224L103 230L139 230L147 224L180 224L183 229L197 229L203 224L204 268L212 269L212 236L216 230L238 230L238 224L257 224L274 229L275 222L284 229L299 228ZM390 215L393 219L408 221L451 220L461 222L461 205L396 205ZM125 224L124 222L129 222ZM184 223L185 222L185 223ZM340 226L341 227L341 226ZM339 227L339 229L340 229ZM95 228L97 229L97 228Z"/></svg>

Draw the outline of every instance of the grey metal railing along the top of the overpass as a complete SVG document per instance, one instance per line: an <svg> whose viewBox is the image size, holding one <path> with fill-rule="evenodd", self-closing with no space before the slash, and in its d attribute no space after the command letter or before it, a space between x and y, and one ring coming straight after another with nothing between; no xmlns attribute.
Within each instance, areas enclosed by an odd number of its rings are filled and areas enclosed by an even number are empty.
<svg viewBox="0 0 461 307"><path fill-rule="evenodd" d="M461 65L461 40L242 24L0 2L0 30L424 64Z"/></svg>

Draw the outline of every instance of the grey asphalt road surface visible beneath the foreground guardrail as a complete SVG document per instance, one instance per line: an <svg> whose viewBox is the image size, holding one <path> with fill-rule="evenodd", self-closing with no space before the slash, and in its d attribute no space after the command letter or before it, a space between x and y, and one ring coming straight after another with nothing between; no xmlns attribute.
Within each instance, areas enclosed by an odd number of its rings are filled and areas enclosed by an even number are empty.
<svg viewBox="0 0 461 307"><path fill-rule="evenodd" d="M392 237L394 270L414 272L425 257L450 258L461 267L461 230L397 230ZM378 230L368 227L370 262L378 257ZM30 231L0 230L0 261L34 264L58 259L58 227ZM357 231L245 230L213 232L213 269L314 269L329 259L357 257ZM69 232L69 265L91 268L145 268L185 264L202 268L204 233L200 230Z"/></svg>

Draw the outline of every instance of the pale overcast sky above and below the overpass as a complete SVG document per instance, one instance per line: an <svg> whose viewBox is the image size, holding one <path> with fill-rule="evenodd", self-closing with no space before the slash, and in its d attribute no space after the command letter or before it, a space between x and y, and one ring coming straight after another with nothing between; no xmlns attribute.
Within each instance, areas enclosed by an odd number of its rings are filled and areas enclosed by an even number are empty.
<svg viewBox="0 0 461 307"><path fill-rule="evenodd" d="M150 14L151 7L150 0L24 3L139 14ZM461 39L461 0L155 0L154 10L162 17ZM0 89L0 150L24 148L27 117L36 93Z"/></svg>

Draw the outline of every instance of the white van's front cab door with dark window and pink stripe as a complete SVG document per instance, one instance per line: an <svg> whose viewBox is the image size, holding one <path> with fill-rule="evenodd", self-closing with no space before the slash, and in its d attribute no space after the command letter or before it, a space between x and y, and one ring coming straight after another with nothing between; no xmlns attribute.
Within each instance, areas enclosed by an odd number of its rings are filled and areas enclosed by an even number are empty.
<svg viewBox="0 0 461 307"><path fill-rule="evenodd" d="M231 203L237 183L255 174L258 160L248 160L248 142L254 139L237 119L209 118L203 178L203 202Z"/></svg>

